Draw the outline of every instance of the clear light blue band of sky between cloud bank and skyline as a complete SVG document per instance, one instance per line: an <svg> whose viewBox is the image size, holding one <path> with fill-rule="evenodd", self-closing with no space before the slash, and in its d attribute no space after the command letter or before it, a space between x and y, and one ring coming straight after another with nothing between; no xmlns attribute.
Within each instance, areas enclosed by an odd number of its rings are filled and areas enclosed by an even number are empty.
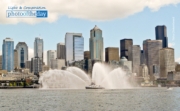
<svg viewBox="0 0 180 111"><path fill-rule="evenodd" d="M26 42L29 47L29 52L32 53L35 37L43 38L45 51L56 50L56 45L53 44L64 42L66 32L79 32L83 34L85 44L84 50L86 51L89 50L89 30L92 29L94 25L97 25L103 30L104 48L119 47L119 42L117 41L124 38L131 38L133 39L134 45L140 45L142 50L143 40L155 40L155 27L157 25L166 25L169 46L173 46L175 49L175 60L177 61L179 58L180 62L180 51L178 50L178 47L180 47L180 44L178 44L178 41L180 41L180 32L177 31L180 29L180 21L178 21L180 18L178 11L178 9L180 9L179 6L180 4L167 5L161 7L157 11L151 11L149 8L144 8L139 13L135 13L125 18L115 18L107 21L91 21L80 19L78 17L62 16L51 23L0 24L0 38L2 41L6 37L11 37L14 39L14 44ZM50 17L51 13L49 14ZM11 21L13 19L9 18L8 20ZM2 46L0 45L0 53L1 52ZM44 56L46 56L46 53L44 52ZM30 59L31 57L28 58Z"/></svg>

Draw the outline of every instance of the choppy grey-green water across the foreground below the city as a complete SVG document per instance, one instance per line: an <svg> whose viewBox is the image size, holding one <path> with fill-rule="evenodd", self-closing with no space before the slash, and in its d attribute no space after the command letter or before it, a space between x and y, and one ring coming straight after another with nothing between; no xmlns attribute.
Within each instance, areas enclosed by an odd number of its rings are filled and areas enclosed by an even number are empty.
<svg viewBox="0 0 180 111"><path fill-rule="evenodd" d="M180 111L180 88L0 89L0 111Z"/></svg>

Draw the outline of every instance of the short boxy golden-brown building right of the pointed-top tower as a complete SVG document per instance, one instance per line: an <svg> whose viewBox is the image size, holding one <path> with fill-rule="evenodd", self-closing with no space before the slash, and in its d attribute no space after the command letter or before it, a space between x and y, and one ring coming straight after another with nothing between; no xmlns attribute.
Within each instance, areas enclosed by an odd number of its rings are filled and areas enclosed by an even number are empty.
<svg viewBox="0 0 180 111"><path fill-rule="evenodd" d="M107 47L105 49L105 61L119 61L119 48L118 47Z"/></svg>

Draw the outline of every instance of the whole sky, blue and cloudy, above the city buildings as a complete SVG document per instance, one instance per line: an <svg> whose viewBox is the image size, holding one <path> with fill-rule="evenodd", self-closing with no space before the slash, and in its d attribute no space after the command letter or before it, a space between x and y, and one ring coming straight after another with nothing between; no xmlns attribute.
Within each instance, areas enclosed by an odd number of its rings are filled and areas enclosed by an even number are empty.
<svg viewBox="0 0 180 111"><path fill-rule="evenodd" d="M6 18L9 6L44 6L48 18ZM180 62L180 0L0 0L0 54L3 39L10 37L14 47L26 42L33 57L35 37L44 40L44 53L56 50L66 32L82 33L84 50L89 50L90 30L103 31L104 48L120 47L120 40L132 38L134 45L155 40L155 27L166 25L169 47Z"/></svg>

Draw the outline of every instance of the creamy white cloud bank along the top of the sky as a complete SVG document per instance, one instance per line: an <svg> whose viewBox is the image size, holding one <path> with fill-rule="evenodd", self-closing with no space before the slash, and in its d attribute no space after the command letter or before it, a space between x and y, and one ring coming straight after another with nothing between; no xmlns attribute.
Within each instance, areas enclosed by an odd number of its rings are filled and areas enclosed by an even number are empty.
<svg viewBox="0 0 180 111"><path fill-rule="evenodd" d="M148 7L157 11L167 5L176 5L180 0L0 0L0 23L17 24L24 22L54 22L60 16L104 21L124 18L143 11ZM8 6L44 6L48 10L48 18L6 18Z"/></svg>

